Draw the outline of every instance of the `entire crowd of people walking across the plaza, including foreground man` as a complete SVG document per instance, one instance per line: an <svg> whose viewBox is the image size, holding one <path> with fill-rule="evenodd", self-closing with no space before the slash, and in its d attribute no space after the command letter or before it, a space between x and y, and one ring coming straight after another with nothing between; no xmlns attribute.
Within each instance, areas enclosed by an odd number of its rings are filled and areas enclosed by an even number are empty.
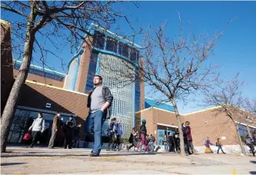
<svg viewBox="0 0 256 175"><path fill-rule="evenodd" d="M89 107L89 114L86 118L86 121L84 123L85 128L85 134L88 137L91 137L91 140L94 140L94 147L93 150L91 150L91 154L89 156L91 157L98 157L101 152L102 147L102 137L101 137L101 129L103 126L103 123L106 119L109 119L111 116L111 103L113 101L113 95L111 94L111 91L108 89L108 87L102 85L102 78L99 75L96 75L93 78L93 82L95 84L95 87L89 92L88 94L88 103L87 107ZM60 120L60 113L56 114L53 120L52 124L52 137L49 141L48 148L53 148L55 144L55 138L57 135L58 130L62 128L62 121ZM146 121L142 120L141 127L139 130L136 130L136 128L132 128L131 136L129 138L130 146L128 147L128 150L131 149L131 147L135 147L135 151L138 151L138 148L140 148L142 145L144 145L144 150L147 151L149 147L153 147L153 150L155 148L154 142L155 137L152 135L149 137L147 134L147 127L146 127ZM183 137L184 137L184 143L185 143L185 154L194 154L194 146L192 144L192 137L191 137L191 128L190 128L190 122L186 121L184 124L182 124L182 131L183 131ZM76 126L75 120L73 117L69 117L69 120L65 123L64 130L65 130L65 148L71 149L72 140L75 138L75 147L78 147L78 138L79 138L79 128L81 127L81 124L78 124ZM38 118L35 119L32 126L29 127L29 130L32 130L32 144L30 147L34 147L35 141L38 137L38 135L45 130L45 121L42 117L42 114L38 114ZM123 130L121 127L121 120L118 120L116 118L111 119L111 124L108 127L107 133L109 137L109 143L108 143L108 149L107 150L120 150L119 144L121 143L121 136L123 134ZM256 135L256 134L255 134ZM255 136L256 137L256 136ZM138 143L138 140L140 139L140 143ZM253 144L256 143L256 138L254 141L251 139L251 137L246 138L246 144L248 147L251 148L252 152L254 153L254 147ZM169 148L169 151L179 151L180 150L180 140L178 137L178 133L170 134L168 137L165 135L165 151L167 151L167 147ZM211 141L207 139L205 141L205 153L212 153L211 150ZM149 146L149 147L148 147ZM222 151L223 154L224 151L222 150L222 144L221 139L218 138L216 146L218 146L218 153L219 150Z"/></svg>

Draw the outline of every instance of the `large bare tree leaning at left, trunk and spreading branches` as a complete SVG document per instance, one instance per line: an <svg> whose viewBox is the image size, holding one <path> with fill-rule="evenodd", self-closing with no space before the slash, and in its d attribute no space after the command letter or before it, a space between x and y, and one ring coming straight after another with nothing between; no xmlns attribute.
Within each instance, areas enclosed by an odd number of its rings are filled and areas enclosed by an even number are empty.
<svg viewBox="0 0 256 175"><path fill-rule="evenodd" d="M1 152L6 150L6 140L10 129L15 107L18 101L22 85L28 75L28 68L32 62L38 61L33 54L38 52L44 66L48 54L59 56L59 51L65 45L69 45L71 51L78 50L83 42L91 45L91 40L85 40L85 35L90 36L89 28L93 22L103 28L110 28L118 19L127 22L132 31L131 22L121 11L112 8L115 1L10 1L1 2L2 11L15 15L12 23L13 48L22 58L17 78L13 84L1 117ZM131 35L134 37L135 35ZM60 38L63 41L58 43ZM128 38L128 36L126 37ZM45 46L52 49L47 49ZM24 47L24 48L21 48ZM32 59L33 58L33 59ZM38 61L38 62L39 62ZM51 68L52 69L52 68Z"/></svg>

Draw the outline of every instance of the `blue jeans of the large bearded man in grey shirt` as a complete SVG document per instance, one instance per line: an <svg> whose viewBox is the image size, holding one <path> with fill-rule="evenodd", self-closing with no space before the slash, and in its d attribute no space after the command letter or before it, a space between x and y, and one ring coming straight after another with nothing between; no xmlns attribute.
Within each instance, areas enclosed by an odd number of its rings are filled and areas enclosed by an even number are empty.
<svg viewBox="0 0 256 175"><path fill-rule="evenodd" d="M102 137L101 137L101 128L105 121L103 117L104 113L102 111L97 111L95 113L90 113L85 121L85 130L88 136L94 135L95 144L92 152L95 154L100 154L102 147Z"/></svg>

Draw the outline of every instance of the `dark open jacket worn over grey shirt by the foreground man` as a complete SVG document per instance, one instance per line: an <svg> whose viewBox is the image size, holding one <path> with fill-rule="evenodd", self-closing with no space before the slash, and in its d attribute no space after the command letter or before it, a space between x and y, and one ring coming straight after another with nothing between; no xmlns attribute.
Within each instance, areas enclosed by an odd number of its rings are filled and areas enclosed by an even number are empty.
<svg viewBox="0 0 256 175"><path fill-rule="evenodd" d="M92 94L93 91L95 91L95 88L93 88L91 93L88 95L87 107L91 107L91 94ZM110 104L109 107L104 111L104 113L105 113L104 117L109 119L110 116L111 116L111 104L112 104L112 101L113 101L113 95L111 94L111 91L106 86L102 87L102 95L105 98L105 102L108 101L108 103Z"/></svg>

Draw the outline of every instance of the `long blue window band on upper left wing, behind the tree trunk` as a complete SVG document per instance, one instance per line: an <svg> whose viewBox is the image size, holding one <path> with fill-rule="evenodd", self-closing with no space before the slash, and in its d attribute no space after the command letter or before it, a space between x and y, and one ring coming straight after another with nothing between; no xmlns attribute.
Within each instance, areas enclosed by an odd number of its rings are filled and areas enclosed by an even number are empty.
<svg viewBox="0 0 256 175"><path fill-rule="evenodd" d="M18 70L21 67L21 64L14 64L14 69ZM48 71L43 71L41 69L36 69L36 68L29 68L28 70L29 74L35 74L38 75L40 77L44 77L44 78L49 78L55 81L62 81L63 78L65 78L64 75L60 75L54 71L52 71L51 73Z"/></svg>

